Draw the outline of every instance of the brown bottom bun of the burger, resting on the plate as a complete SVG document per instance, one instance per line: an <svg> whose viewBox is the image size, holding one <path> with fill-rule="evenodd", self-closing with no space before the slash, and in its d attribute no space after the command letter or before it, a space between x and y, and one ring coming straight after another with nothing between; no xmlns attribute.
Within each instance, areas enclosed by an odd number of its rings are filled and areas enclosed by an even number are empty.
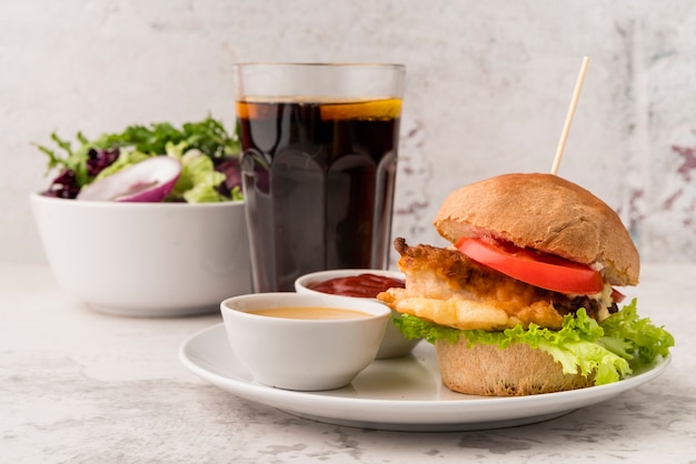
<svg viewBox="0 0 696 464"><path fill-rule="evenodd" d="M435 343L443 383L469 395L524 396L577 390L594 385L594 375L564 374L561 365L543 352L515 343L503 350L475 344Z"/></svg>

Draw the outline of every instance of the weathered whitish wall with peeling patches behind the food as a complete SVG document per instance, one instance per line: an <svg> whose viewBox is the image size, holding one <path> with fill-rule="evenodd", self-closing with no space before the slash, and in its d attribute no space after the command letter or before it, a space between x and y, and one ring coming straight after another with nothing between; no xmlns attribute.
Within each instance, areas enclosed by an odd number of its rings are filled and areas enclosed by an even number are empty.
<svg viewBox="0 0 696 464"><path fill-rule="evenodd" d="M208 113L231 125L237 61L405 63L394 233L437 243L449 191L550 170L585 54L559 174L620 213L644 261L696 261L694 24L692 0L3 0L0 261L44 260L32 142Z"/></svg>

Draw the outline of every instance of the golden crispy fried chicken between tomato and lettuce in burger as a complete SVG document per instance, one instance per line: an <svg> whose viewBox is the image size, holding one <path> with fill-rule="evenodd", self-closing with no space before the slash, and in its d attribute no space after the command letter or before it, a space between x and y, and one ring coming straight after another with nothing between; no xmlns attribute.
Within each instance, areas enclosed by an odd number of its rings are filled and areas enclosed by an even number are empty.
<svg viewBox="0 0 696 464"><path fill-rule="evenodd" d="M394 245L401 255L399 269L406 275L406 288L389 289L377 295L378 300L436 324L486 331L530 323L559 329L563 316L579 307L597 320L616 311L610 286L593 295L598 297L571 297L509 278L455 249L409 246L401 238Z"/></svg>

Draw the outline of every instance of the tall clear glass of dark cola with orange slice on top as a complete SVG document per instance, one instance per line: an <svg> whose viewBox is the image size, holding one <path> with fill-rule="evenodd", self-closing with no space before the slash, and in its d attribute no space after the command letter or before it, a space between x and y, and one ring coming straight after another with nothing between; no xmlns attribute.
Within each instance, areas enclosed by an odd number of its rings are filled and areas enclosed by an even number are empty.
<svg viewBox="0 0 696 464"><path fill-rule="evenodd" d="M256 292L389 265L405 74L401 64L235 65Z"/></svg>

